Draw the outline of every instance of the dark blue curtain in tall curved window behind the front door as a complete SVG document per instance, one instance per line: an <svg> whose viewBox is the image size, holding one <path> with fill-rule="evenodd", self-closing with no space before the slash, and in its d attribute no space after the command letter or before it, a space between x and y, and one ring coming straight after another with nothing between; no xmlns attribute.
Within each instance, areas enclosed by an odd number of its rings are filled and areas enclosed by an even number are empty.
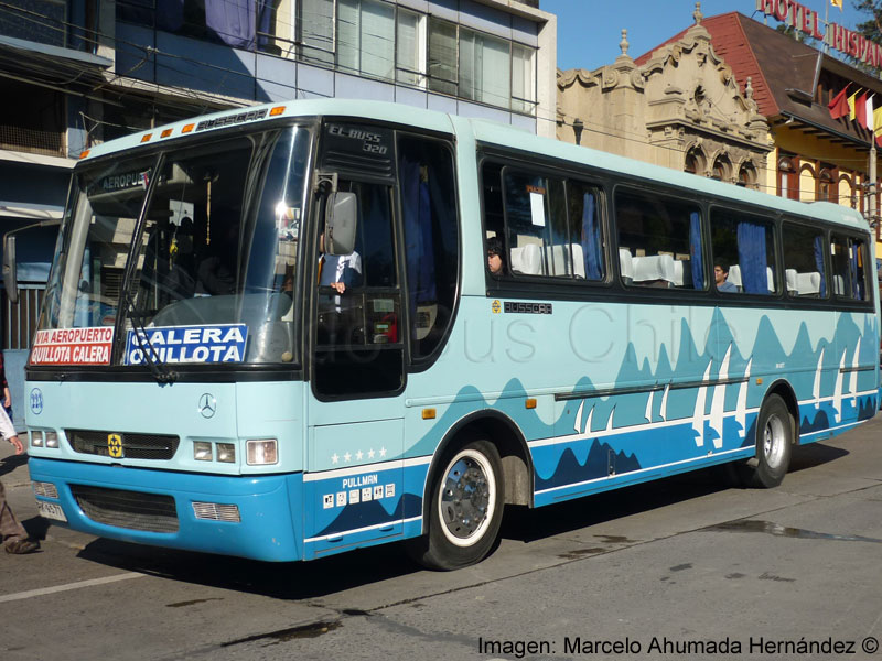
<svg viewBox="0 0 882 661"><path fill-rule="evenodd" d="M405 251L411 324L417 319L417 305L437 300L434 282L434 246L432 240L432 205L429 169L412 156L402 155L399 163L401 206L405 220Z"/></svg>

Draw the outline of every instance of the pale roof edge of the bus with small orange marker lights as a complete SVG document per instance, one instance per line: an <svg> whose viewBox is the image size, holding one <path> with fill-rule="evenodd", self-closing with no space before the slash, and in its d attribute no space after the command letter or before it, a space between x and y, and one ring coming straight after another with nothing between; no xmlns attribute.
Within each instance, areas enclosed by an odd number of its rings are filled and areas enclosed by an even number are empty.
<svg viewBox="0 0 882 661"><path fill-rule="evenodd" d="M95 145L83 152L80 160L90 160L139 147L155 147L159 142L207 133L233 126L260 123L270 119L342 116L369 118L407 124L418 129L441 133L471 132L480 143L494 144L544 154L553 159L590 165L609 172L624 172L648 182L664 181L673 186L696 191L718 198L744 202L784 214L813 216L818 219L868 230L864 218L854 209L833 203L803 203L697 176L662 165L598 151L588 147L538 137L507 124L484 119L454 118L443 112L392 104L388 101L366 101L356 99L302 99L286 102L263 104L235 110L222 110L192 119L186 119L154 129L140 131Z"/></svg>

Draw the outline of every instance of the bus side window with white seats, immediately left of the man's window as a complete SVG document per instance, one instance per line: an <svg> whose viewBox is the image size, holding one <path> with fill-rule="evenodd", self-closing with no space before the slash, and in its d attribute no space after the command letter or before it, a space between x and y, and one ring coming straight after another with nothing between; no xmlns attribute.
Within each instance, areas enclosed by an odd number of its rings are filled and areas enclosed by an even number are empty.
<svg viewBox="0 0 882 661"><path fill-rule="evenodd" d="M697 205L633 191L615 194L619 267L625 284L704 289Z"/></svg>

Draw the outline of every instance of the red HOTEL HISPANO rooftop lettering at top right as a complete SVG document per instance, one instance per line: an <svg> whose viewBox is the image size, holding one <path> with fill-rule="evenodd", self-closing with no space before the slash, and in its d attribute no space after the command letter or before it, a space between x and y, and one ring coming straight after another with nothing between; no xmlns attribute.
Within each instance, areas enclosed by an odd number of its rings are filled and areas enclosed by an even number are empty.
<svg viewBox="0 0 882 661"><path fill-rule="evenodd" d="M837 23L829 23L825 30L824 19L818 12L795 0L756 0L756 11L774 17L807 36L821 40L831 48L864 64L882 67L882 46Z"/></svg>

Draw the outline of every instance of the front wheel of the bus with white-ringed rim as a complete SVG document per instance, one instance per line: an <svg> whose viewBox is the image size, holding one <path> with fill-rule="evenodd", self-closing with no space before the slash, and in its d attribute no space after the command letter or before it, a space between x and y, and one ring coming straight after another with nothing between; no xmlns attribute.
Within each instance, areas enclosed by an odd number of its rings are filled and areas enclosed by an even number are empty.
<svg viewBox="0 0 882 661"><path fill-rule="evenodd" d="M429 487L427 534L408 552L431 570L459 570L493 549L503 520L505 484L496 447L472 441L444 453Z"/></svg>

